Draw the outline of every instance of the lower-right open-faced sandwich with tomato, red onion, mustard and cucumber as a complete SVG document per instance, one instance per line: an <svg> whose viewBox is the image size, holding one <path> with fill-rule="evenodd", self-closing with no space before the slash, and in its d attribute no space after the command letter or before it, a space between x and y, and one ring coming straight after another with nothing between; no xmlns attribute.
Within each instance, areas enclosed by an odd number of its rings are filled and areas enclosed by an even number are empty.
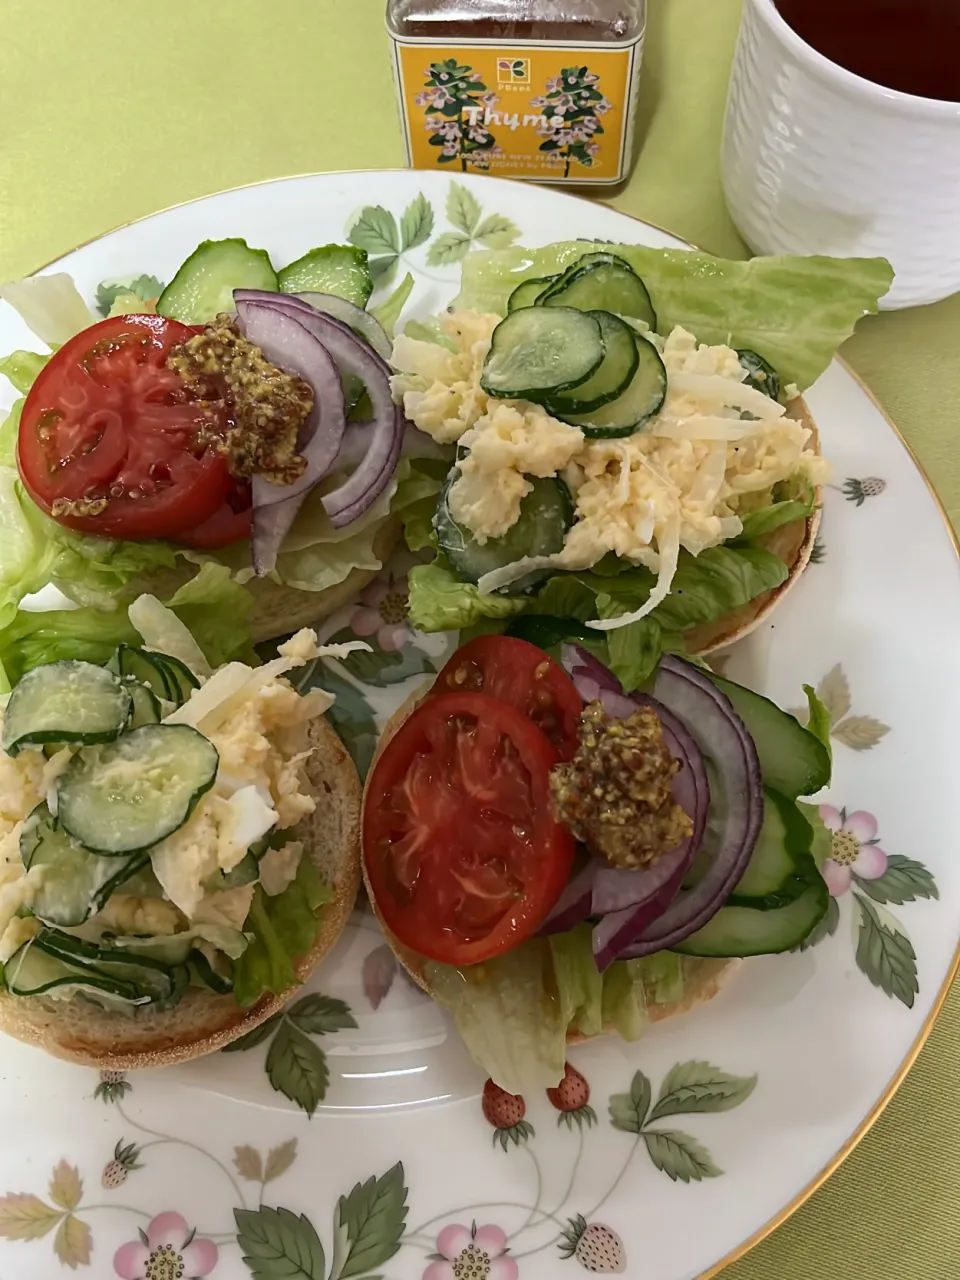
<svg viewBox="0 0 960 1280"><path fill-rule="evenodd" d="M800 799L829 781L828 739L685 659L632 695L585 649L562 659L462 646L388 726L364 801L388 938L508 1093L799 947L829 902Z"/></svg>

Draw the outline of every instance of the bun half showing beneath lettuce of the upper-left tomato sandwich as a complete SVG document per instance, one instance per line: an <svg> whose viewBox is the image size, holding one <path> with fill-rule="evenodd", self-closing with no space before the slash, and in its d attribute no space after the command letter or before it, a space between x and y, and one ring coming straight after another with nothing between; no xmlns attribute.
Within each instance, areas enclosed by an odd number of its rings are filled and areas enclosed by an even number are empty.
<svg viewBox="0 0 960 1280"><path fill-rule="evenodd" d="M387 520L378 530L374 538L374 556L381 566L390 558L399 532L401 524L394 518ZM379 568L351 570L342 582L328 586L324 591L301 591L296 586L284 586L269 577L251 579L247 582L247 590L253 596L251 617L253 643L274 640L276 636L300 631L301 627L314 626L315 622L320 622L348 604L379 572ZM137 588L142 591L150 591L160 599L168 599L178 586L187 582L195 573L193 564L188 564L183 570L160 570L138 582Z"/></svg>

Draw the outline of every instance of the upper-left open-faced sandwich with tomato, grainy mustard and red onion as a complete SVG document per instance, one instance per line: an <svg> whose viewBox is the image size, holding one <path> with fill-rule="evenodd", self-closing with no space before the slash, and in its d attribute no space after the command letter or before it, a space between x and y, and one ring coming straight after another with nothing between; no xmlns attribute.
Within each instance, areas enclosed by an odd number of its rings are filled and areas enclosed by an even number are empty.
<svg viewBox="0 0 960 1280"><path fill-rule="evenodd" d="M0 611L50 584L106 613L168 600L206 563L247 586L256 640L352 599L422 493L387 362L411 287L369 311L362 250L278 274L239 239L166 288L101 285L102 319L68 275L4 285L51 351L0 360L23 397L0 430Z"/></svg>

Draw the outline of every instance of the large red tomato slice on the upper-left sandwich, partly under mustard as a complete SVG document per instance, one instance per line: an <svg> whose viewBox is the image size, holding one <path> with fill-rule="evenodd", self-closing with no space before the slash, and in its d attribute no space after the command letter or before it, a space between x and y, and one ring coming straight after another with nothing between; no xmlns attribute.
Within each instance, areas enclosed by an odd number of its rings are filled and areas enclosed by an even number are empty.
<svg viewBox="0 0 960 1280"><path fill-rule="evenodd" d="M17 442L37 506L82 532L175 541L227 503L234 483L216 448L227 404L201 403L166 367L193 332L164 316L115 316L52 356ZM69 506L101 500L96 513Z"/></svg>

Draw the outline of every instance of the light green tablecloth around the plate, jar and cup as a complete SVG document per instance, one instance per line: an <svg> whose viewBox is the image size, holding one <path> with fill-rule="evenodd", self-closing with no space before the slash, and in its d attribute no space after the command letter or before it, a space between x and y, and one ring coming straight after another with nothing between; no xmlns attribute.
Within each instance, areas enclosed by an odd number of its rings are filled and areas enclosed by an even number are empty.
<svg viewBox="0 0 960 1280"><path fill-rule="evenodd" d="M648 0L641 151L613 201L717 253L741 0ZM383 0L3 0L0 279L131 219L266 178L403 164ZM844 356L957 524L960 296L864 321ZM960 991L835 1176L724 1280L960 1276Z"/></svg>

